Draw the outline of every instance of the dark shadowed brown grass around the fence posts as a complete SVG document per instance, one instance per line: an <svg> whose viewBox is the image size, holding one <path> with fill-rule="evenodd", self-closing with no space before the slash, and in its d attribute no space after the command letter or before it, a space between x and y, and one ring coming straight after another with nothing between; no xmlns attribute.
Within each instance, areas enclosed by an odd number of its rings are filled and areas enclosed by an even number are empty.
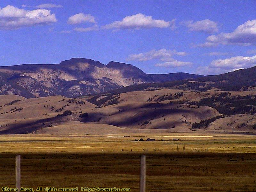
<svg viewBox="0 0 256 192"><path fill-rule="evenodd" d="M15 182L14 156L1 154L0 159L0 183L14 187L10 185ZM255 154L147 154L147 191L255 191L255 160ZM139 191L139 174L139 154L24 154L21 159L24 187Z"/></svg>

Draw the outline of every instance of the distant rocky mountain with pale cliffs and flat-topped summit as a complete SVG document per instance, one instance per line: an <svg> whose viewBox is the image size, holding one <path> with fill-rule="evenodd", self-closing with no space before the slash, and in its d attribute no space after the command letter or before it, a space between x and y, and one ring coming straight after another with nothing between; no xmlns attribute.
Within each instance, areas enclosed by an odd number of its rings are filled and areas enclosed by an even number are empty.
<svg viewBox="0 0 256 192"><path fill-rule="evenodd" d="M26 98L63 95L77 97L123 86L161 83L201 77L187 73L146 74L130 64L110 61L107 65L84 58L59 64L23 64L0 67L0 94Z"/></svg>

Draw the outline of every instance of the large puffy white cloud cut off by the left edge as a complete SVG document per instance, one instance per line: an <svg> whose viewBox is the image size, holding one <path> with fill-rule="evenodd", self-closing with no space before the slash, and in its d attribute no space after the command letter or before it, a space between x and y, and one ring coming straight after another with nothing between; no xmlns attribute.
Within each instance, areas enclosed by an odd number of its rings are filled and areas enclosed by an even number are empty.
<svg viewBox="0 0 256 192"><path fill-rule="evenodd" d="M57 22L55 14L51 14L51 11L46 9L28 11L12 5L0 8L0 30L45 25L55 22Z"/></svg>

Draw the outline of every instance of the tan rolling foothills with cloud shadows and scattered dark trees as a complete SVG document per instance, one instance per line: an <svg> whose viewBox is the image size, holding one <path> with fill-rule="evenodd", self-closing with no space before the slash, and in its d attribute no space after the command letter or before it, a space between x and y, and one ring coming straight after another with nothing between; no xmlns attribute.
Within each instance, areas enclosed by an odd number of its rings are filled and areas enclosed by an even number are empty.
<svg viewBox="0 0 256 192"><path fill-rule="evenodd" d="M255 95L166 88L76 99L0 95L0 134L252 133ZM247 107L241 110L239 103Z"/></svg>

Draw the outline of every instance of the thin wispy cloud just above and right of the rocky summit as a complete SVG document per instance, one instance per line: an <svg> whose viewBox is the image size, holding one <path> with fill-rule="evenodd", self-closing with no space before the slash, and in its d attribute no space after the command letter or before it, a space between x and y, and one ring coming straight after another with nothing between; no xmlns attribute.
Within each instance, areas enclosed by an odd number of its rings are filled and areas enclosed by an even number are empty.
<svg viewBox="0 0 256 192"><path fill-rule="evenodd" d="M172 59L172 55L179 55L185 56L187 55L186 52L177 52L176 50L151 50L149 52L139 53L139 54L132 54L129 55L127 60L138 60L138 61L148 61L153 59L160 59L162 61L168 61L168 59Z"/></svg>

